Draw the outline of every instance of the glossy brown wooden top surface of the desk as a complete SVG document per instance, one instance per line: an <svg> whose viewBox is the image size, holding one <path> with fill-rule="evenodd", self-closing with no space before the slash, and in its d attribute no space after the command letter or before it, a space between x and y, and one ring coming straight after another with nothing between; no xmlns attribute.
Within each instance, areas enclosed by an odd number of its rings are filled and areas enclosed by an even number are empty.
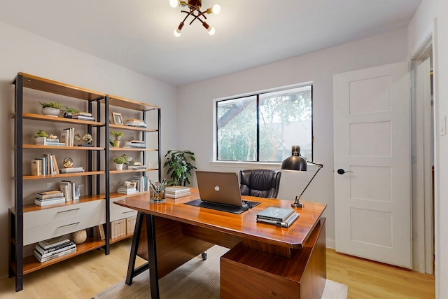
<svg viewBox="0 0 448 299"><path fill-rule="evenodd" d="M165 203L154 204L149 200L149 194L126 197L117 200L116 204L141 211L145 214L173 219L182 223L189 223L202 228L209 228L254 241L265 242L289 249L300 249L307 240L311 230L321 218L326 204L319 202L304 202L304 208L297 208L300 217L289 228L276 225L258 223L256 214L267 207L289 208L292 200L276 200L260 197L243 196L245 200L262 202L258 206L242 214L232 214L213 209L193 207L185 202L197 200L199 193L196 188L190 188L191 195L177 198L168 198Z"/></svg>

